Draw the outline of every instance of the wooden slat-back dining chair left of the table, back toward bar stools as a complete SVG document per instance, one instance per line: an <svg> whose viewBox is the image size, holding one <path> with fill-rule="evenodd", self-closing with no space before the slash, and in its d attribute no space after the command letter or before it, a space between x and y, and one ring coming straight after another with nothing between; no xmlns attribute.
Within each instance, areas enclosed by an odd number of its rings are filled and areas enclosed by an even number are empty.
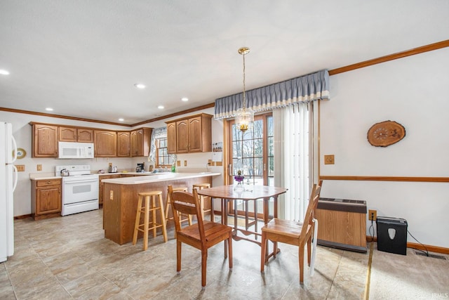
<svg viewBox="0 0 449 300"><path fill-rule="evenodd" d="M206 287L206 266L210 247L219 242L228 241L229 270L232 270L232 228L221 223L203 220L196 189L193 190L193 194L182 191L174 192L173 187L168 185L168 193L170 193L175 220L177 273L181 272L181 246L183 242L201 250L201 287L204 289ZM194 215L197 223L181 228L179 214Z"/></svg>

